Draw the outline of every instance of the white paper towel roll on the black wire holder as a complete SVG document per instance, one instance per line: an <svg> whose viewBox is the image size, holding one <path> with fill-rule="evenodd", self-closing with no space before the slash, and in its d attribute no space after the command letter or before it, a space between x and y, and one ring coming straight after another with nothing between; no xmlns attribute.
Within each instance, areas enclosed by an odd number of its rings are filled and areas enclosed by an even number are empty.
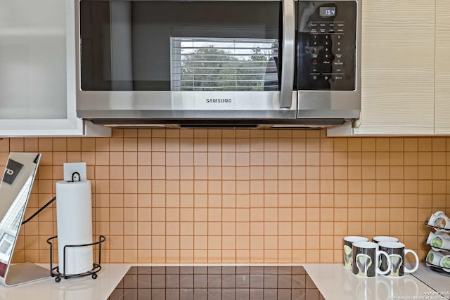
<svg viewBox="0 0 450 300"><path fill-rule="evenodd" d="M56 218L58 228L59 272L66 275L85 273L93 267L93 248L64 247L92 243L91 181L56 183Z"/></svg>

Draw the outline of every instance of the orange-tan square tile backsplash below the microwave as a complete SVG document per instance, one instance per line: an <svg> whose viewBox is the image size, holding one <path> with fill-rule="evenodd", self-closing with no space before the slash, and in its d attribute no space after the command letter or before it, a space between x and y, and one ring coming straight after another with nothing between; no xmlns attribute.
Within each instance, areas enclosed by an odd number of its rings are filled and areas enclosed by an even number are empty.
<svg viewBox="0 0 450 300"><path fill-rule="evenodd" d="M42 153L25 218L56 195L64 162L86 162L104 263L340 263L345 235L394 235L423 259L425 221L450 212L446 137L114 129L4 138L1 168L10 151ZM21 228L13 261L49 262L54 235L56 204Z"/></svg>

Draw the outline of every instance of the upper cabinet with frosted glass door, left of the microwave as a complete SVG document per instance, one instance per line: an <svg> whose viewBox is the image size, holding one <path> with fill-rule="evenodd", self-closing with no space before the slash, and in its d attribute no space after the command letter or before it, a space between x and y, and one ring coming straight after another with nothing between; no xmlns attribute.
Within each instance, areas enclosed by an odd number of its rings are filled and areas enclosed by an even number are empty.
<svg viewBox="0 0 450 300"><path fill-rule="evenodd" d="M75 105L75 1L0 0L0 136L108 136Z"/></svg>

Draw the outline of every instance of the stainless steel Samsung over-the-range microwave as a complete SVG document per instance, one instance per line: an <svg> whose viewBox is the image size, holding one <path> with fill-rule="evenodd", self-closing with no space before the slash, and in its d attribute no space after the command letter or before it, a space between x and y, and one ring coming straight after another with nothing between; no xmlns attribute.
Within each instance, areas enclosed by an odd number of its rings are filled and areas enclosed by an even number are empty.
<svg viewBox="0 0 450 300"><path fill-rule="evenodd" d="M77 115L107 126L359 118L361 0L76 0Z"/></svg>

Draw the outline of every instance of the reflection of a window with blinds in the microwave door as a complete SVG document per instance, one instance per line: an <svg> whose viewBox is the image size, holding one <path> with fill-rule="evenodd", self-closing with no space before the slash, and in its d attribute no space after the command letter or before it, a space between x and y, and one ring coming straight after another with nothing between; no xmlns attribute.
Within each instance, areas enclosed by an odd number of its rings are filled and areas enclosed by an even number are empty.
<svg viewBox="0 0 450 300"><path fill-rule="evenodd" d="M195 30L192 31L195 33ZM198 34L204 35L204 34ZM209 33L210 36L225 34ZM278 89L277 39L171 37L172 91ZM270 72L267 73L267 70ZM273 73L274 72L274 73ZM269 88L269 89L266 89Z"/></svg>

